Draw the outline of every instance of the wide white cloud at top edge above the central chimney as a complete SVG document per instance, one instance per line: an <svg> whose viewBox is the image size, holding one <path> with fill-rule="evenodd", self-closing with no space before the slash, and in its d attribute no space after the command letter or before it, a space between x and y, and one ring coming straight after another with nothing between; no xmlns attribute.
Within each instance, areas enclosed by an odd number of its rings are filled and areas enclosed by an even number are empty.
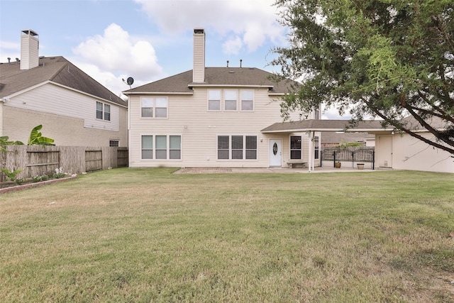
<svg viewBox="0 0 454 303"><path fill-rule="evenodd" d="M284 28L276 21L274 0L135 1L166 34L196 27L214 31L221 39L226 39L223 52L227 54L238 53L238 47L253 52L267 40L273 43L285 40ZM232 35L236 36L233 40Z"/></svg>

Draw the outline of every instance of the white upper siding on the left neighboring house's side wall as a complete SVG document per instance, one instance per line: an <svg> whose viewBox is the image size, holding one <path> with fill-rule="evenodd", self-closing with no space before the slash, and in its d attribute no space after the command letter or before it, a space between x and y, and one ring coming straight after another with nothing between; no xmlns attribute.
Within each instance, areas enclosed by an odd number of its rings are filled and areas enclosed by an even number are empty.
<svg viewBox="0 0 454 303"><path fill-rule="evenodd" d="M99 120L96 119L96 101L101 100L48 83L11 97L5 105L83 119L87 128L118 131L119 106L108 103L111 105L111 121Z"/></svg>

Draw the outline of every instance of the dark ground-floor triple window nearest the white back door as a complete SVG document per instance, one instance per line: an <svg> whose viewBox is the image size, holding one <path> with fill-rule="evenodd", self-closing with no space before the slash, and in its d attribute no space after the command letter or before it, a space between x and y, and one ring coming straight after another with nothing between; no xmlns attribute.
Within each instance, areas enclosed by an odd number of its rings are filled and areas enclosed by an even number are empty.
<svg viewBox="0 0 454 303"><path fill-rule="evenodd" d="M218 160L257 160L257 136L218 136Z"/></svg>

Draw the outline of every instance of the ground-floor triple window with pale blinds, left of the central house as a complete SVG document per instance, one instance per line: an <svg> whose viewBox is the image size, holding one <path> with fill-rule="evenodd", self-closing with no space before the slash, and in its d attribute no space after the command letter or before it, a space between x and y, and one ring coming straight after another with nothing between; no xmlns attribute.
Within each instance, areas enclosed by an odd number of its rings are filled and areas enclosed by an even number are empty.
<svg viewBox="0 0 454 303"><path fill-rule="evenodd" d="M142 136L142 159L179 160L181 136Z"/></svg>

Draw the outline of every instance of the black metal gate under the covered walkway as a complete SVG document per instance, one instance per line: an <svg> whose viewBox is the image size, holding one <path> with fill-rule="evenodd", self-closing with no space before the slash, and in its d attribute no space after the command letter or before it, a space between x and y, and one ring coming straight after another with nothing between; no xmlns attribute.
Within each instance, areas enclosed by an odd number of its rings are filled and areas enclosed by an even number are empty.
<svg viewBox="0 0 454 303"><path fill-rule="evenodd" d="M325 148L321 152L321 166L335 166L341 162L342 167L358 167L364 164L365 169L375 170L375 148Z"/></svg>

